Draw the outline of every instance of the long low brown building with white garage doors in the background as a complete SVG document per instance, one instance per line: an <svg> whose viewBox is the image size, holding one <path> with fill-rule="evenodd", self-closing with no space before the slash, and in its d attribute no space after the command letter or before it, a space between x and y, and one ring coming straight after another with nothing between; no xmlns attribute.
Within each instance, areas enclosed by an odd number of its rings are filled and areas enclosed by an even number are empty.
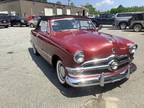
<svg viewBox="0 0 144 108"><path fill-rule="evenodd" d="M88 15L84 7L38 2L35 0L0 0L0 13L31 15Z"/></svg>

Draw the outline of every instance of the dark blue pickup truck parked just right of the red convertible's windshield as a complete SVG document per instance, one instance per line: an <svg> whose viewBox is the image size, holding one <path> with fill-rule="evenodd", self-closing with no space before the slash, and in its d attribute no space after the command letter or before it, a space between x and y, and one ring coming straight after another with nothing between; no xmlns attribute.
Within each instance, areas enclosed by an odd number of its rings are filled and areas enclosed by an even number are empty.
<svg viewBox="0 0 144 108"><path fill-rule="evenodd" d="M99 25L113 25L114 15L113 14L101 14L98 17L92 18L92 22L97 26Z"/></svg>

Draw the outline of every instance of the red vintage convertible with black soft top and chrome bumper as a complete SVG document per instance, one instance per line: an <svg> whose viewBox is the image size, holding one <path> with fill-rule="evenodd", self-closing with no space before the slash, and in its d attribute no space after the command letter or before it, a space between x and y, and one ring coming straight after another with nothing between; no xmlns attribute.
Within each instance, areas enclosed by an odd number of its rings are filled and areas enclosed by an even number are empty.
<svg viewBox="0 0 144 108"><path fill-rule="evenodd" d="M56 68L62 85L104 86L130 76L137 45L98 32L87 17L43 16L31 35L34 54Z"/></svg>

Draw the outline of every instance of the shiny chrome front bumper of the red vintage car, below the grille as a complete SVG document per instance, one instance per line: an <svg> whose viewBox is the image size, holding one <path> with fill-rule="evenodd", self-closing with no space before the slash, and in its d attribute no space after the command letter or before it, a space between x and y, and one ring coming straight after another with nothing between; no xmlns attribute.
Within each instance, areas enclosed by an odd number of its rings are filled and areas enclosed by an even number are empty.
<svg viewBox="0 0 144 108"><path fill-rule="evenodd" d="M105 84L114 83L122 79L129 78L130 68L131 65L129 64L123 69L119 69L109 74L102 72L101 74L89 75L87 77L67 76L66 82L72 87L85 87L85 86L94 86L94 85L100 85L103 87Z"/></svg>

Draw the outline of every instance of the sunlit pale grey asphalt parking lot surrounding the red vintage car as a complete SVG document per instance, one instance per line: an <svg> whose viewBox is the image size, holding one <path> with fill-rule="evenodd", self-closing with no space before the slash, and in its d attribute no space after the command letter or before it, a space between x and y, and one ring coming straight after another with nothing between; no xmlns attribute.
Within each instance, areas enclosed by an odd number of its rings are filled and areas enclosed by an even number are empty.
<svg viewBox="0 0 144 108"><path fill-rule="evenodd" d="M101 31L139 45L130 79L104 88L64 88L55 70L33 55L30 28L0 29L0 108L143 108L144 32Z"/></svg>

